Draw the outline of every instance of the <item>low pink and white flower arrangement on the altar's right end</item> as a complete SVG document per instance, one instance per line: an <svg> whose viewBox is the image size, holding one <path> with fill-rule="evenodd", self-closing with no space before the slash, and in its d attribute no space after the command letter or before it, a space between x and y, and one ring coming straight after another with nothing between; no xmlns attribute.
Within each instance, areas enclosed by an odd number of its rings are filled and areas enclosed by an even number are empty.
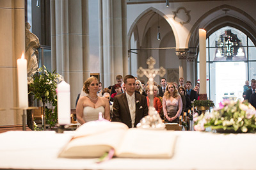
<svg viewBox="0 0 256 170"><path fill-rule="evenodd" d="M256 111L248 102L224 100L219 108L194 115L195 130L204 131L206 127L216 130L231 130L233 132L255 132Z"/></svg>

